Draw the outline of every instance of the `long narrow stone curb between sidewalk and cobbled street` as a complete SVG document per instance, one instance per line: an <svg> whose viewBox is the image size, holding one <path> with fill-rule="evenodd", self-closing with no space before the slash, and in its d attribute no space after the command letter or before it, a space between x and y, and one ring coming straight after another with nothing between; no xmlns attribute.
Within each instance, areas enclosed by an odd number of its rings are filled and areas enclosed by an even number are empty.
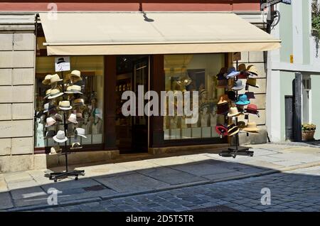
<svg viewBox="0 0 320 226"><path fill-rule="evenodd" d="M34 206L26 206L26 207L21 207L21 208L11 208L11 209L6 209L4 210L5 212L18 212L18 211L30 211L30 210L43 210L43 209L48 209L48 208L58 208L58 207L65 207L65 206L70 206L70 205L80 205L80 204L85 204L85 203L93 203L93 202L100 202L102 200L111 200L114 198L124 198L124 197L129 197L129 196L134 196L134 195L144 195L144 194L150 194L150 193L156 193L156 192L161 192L161 191L166 191L166 190L174 190L178 188L188 188L188 187L193 187L197 185L206 185L206 184L211 184L211 183L220 183L220 182L225 182L225 181L238 181L241 179L245 178L255 178L259 176L267 176L270 174L275 174L275 173L284 173L287 171L294 171L300 168L311 168L315 166L320 166L320 161L319 162L314 162L314 163L304 163L300 164L297 166L288 166L284 167L281 169L277 170L268 170L268 171L262 171L261 173L250 173L250 174L245 174L242 176L230 176L218 180L213 180L213 181L197 181L197 182L192 182L192 183L184 183L181 185L172 185L164 188L159 188L159 189L154 189L154 190L143 190L140 192L135 192L135 193L121 193L121 194L116 194L116 195L106 195L106 196L101 196L101 197L96 197L96 198L85 198L85 199L79 199L79 200L69 200L69 201L64 201L62 203L59 203L58 205L34 205Z"/></svg>

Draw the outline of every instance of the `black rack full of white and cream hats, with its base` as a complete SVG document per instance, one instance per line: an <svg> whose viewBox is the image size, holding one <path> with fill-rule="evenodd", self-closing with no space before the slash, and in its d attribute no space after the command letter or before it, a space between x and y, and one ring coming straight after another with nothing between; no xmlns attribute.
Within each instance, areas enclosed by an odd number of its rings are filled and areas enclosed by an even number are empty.
<svg viewBox="0 0 320 226"><path fill-rule="evenodd" d="M78 73L75 73L75 81L80 80L80 72L76 71ZM71 72L72 74L73 72ZM72 76L72 75L71 75ZM45 78L44 81L48 81L48 77ZM70 84L68 82L68 80L71 80ZM59 89L59 85L58 83L61 82L61 87ZM68 133L68 122L70 123L75 123L73 119L73 114L70 114L69 119L67 119L67 112L70 111L71 109L74 109L75 106L73 106L72 104L70 104L70 96L71 95L81 95L82 93L76 89L77 86L73 87L73 82L72 79L70 79L70 75L66 75L66 77L63 76L63 72L61 72L61 78L58 76L58 74L55 74L54 77L53 75L51 76L51 81L50 82L43 82L43 84L45 85L51 85L50 88L50 94L47 94L48 99L50 100L50 105L51 102L55 101L58 102L58 100L56 99L56 97L62 97L62 101L60 101L58 103L58 107L57 107L57 111L60 114L61 118L60 120L57 120L57 122L61 122L59 125L63 126L63 130L59 130L59 127L56 127L56 132L55 132L55 136L53 136L53 140L55 142L58 142L58 144L63 144L64 143L64 153L60 152L60 155L65 155L65 171L63 172L57 172L57 173L50 173L50 180L53 180L54 182L57 182L59 179L64 179L64 178L68 178L70 176L75 177L75 181L78 181L78 176L84 176L85 171L82 170L73 170L73 171L69 171L69 166L68 166L68 155L69 150L68 150L68 140L72 137L72 135L70 135L70 133ZM70 87L73 87L70 89ZM61 91L60 91L61 90ZM48 103L47 103L48 104ZM46 104L45 104L46 105ZM50 110L48 111L48 116L50 115ZM55 114L57 115L57 114ZM62 120L62 115L63 115L63 120ZM68 121L68 122L67 122ZM53 125L57 125L55 124L55 117L48 117L47 118L47 123L48 123L48 127L51 127ZM48 129L48 128L47 128ZM49 130L50 131L50 130ZM74 134L75 134L75 138L78 139L78 136L82 136L85 137L85 131L82 131L78 128L73 130ZM72 147L70 149L80 149L82 148L80 146L80 143L75 142L75 145L72 145Z"/></svg>

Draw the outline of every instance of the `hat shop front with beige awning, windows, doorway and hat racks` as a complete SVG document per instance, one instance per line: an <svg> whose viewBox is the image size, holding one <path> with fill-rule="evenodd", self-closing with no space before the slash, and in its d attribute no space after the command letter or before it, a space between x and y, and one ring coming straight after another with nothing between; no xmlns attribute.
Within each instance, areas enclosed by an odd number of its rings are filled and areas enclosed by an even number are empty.
<svg viewBox="0 0 320 226"><path fill-rule="evenodd" d="M260 72L254 64L238 63L234 53L279 48L280 41L260 28L218 13L58 18L39 14L36 29L34 143L48 167L64 164L65 141L72 164L229 146L239 133L259 136L258 106L250 99ZM198 121L186 124L177 114L124 117L122 94L132 90L138 97L139 85L159 96L198 91Z"/></svg>

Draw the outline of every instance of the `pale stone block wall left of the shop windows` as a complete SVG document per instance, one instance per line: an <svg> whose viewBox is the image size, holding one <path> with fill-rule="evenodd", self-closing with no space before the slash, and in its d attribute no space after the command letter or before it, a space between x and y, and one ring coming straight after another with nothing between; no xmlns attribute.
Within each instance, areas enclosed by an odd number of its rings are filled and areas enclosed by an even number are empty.
<svg viewBox="0 0 320 226"><path fill-rule="evenodd" d="M0 14L0 172L33 163L34 14Z"/></svg>

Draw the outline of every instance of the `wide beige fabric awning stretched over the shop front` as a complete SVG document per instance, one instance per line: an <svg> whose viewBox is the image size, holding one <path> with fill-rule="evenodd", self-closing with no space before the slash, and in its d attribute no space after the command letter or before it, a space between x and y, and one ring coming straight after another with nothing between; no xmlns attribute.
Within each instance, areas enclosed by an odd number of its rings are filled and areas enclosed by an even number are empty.
<svg viewBox="0 0 320 226"><path fill-rule="evenodd" d="M231 13L41 13L48 55L266 51L280 41Z"/></svg>

